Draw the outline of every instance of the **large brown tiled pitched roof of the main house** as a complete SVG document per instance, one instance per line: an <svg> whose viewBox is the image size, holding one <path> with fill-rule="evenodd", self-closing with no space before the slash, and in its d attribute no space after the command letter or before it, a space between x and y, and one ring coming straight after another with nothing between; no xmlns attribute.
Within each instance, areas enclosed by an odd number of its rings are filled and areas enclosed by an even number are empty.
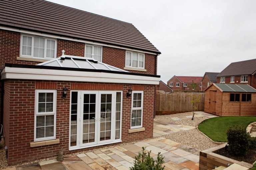
<svg viewBox="0 0 256 170"><path fill-rule="evenodd" d="M43 0L1 0L0 9L2 26L161 53L123 21Z"/></svg>

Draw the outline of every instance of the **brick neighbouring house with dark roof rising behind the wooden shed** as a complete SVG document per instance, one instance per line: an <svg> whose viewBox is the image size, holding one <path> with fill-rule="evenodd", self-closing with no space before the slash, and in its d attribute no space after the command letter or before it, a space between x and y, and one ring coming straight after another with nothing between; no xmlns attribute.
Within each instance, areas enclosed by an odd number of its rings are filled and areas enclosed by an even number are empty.
<svg viewBox="0 0 256 170"><path fill-rule="evenodd" d="M256 88L256 59L232 62L216 77L217 83L248 84Z"/></svg>

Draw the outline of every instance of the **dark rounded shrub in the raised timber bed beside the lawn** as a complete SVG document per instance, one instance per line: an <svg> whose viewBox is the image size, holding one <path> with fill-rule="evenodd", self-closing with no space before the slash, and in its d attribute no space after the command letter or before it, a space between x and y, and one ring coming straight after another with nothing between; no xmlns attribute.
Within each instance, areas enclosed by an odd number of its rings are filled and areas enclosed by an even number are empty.
<svg viewBox="0 0 256 170"><path fill-rule="evenodd" d="M233 155L244 155L250 144L250 134L242 126L230 127L227 131L228 151Z"/></svg>

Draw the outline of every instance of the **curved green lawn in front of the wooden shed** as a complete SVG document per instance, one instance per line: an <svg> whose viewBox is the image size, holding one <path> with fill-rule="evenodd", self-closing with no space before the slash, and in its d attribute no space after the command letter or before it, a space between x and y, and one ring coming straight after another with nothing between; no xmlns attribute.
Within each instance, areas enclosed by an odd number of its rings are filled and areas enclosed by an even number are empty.
<svg viewBox="0 0 256 170"><path fill-rule="evenodd" d="M256 117L217 117L206 119L198 125L198 129L216 142L227 142L227 129L234 125L247 127L256 122Z"/></svg>

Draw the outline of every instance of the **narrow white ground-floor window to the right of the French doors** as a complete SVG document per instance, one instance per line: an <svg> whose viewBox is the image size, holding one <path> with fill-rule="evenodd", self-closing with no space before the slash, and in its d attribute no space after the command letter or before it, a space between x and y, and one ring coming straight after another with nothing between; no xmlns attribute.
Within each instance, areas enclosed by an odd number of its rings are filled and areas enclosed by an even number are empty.
<svg viewBox="0 0 256 170"><path fill-rule="evenodd" d="M143 91L132 91L131 129L142 128Z"/></svg>

